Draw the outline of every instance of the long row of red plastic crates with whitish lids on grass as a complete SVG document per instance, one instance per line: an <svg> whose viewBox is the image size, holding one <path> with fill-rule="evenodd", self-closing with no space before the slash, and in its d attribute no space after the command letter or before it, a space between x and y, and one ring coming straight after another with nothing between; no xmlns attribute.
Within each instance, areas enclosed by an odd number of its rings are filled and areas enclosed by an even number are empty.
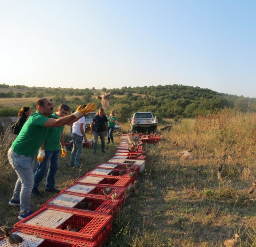
<svg viewBox="0 0 256 247"><path fill-rule="evenodd" d="M97 165L15 224L11 233L24 239L22 246L97 247L107 240L112 220L125 201L126 189L145 169L142 146L129 150L129 138L129 134L122 134L117 152L109 161ZM0 246L11 245L2 237Z"/></svg>

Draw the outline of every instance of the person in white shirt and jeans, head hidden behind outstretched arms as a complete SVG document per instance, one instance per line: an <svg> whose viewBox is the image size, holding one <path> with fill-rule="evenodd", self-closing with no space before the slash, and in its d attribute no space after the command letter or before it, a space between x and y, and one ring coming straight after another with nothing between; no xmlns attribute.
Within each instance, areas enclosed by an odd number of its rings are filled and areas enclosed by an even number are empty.
<svg viewBox="0 0 256 247"><path fill-rule="evenodd" d="M83 108L86 105L83 106ZM83 139L86 142L87 138L85 136L85 117L80 118L73 123L72 134L73 149L70 155L69 167L79 168L80 167L80 157L83 152Z"/></svg>

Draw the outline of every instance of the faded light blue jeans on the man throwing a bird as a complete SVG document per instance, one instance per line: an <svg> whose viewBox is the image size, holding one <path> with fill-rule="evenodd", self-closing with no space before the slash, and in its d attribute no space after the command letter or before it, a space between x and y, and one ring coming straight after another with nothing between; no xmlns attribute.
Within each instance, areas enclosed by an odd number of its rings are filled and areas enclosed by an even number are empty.
<svg viewBox="0 0 256 247"><path fill-rule="evenodd" d="M18 175L13 191L13 200L20 201L21 213L30 210L30 197L34 185L33 168L35 163L34 156L19 155L10 148L8 160Z"/></svg>

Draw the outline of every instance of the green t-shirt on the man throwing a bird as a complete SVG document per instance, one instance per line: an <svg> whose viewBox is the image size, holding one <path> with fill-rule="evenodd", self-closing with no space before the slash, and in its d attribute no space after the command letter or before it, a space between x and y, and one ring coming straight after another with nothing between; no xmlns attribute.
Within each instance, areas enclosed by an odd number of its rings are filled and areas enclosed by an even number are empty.
<svg viewBox="0 0 256 247"><path fill-rule="evenodd" d="M37 111L33 113L12 143L11 148L13 152L26 156L37 155L50 130L49 127L44 127L48 119L48 117L41 115Z"/></svg>

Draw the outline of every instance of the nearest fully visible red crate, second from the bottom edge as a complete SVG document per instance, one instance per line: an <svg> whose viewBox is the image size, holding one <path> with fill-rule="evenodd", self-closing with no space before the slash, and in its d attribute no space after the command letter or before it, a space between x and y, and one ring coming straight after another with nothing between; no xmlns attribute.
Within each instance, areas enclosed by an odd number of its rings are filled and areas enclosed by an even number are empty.
<svg viewBox="0 0 256 247"><path fill-rule="evenodd" d="M65 238L92 241L100 246L112 227L112 216L103 213L77 211L70 208L44 207L17 222L15 227L56 234ZM107 236L106 236L107 235Z"/></svg>

